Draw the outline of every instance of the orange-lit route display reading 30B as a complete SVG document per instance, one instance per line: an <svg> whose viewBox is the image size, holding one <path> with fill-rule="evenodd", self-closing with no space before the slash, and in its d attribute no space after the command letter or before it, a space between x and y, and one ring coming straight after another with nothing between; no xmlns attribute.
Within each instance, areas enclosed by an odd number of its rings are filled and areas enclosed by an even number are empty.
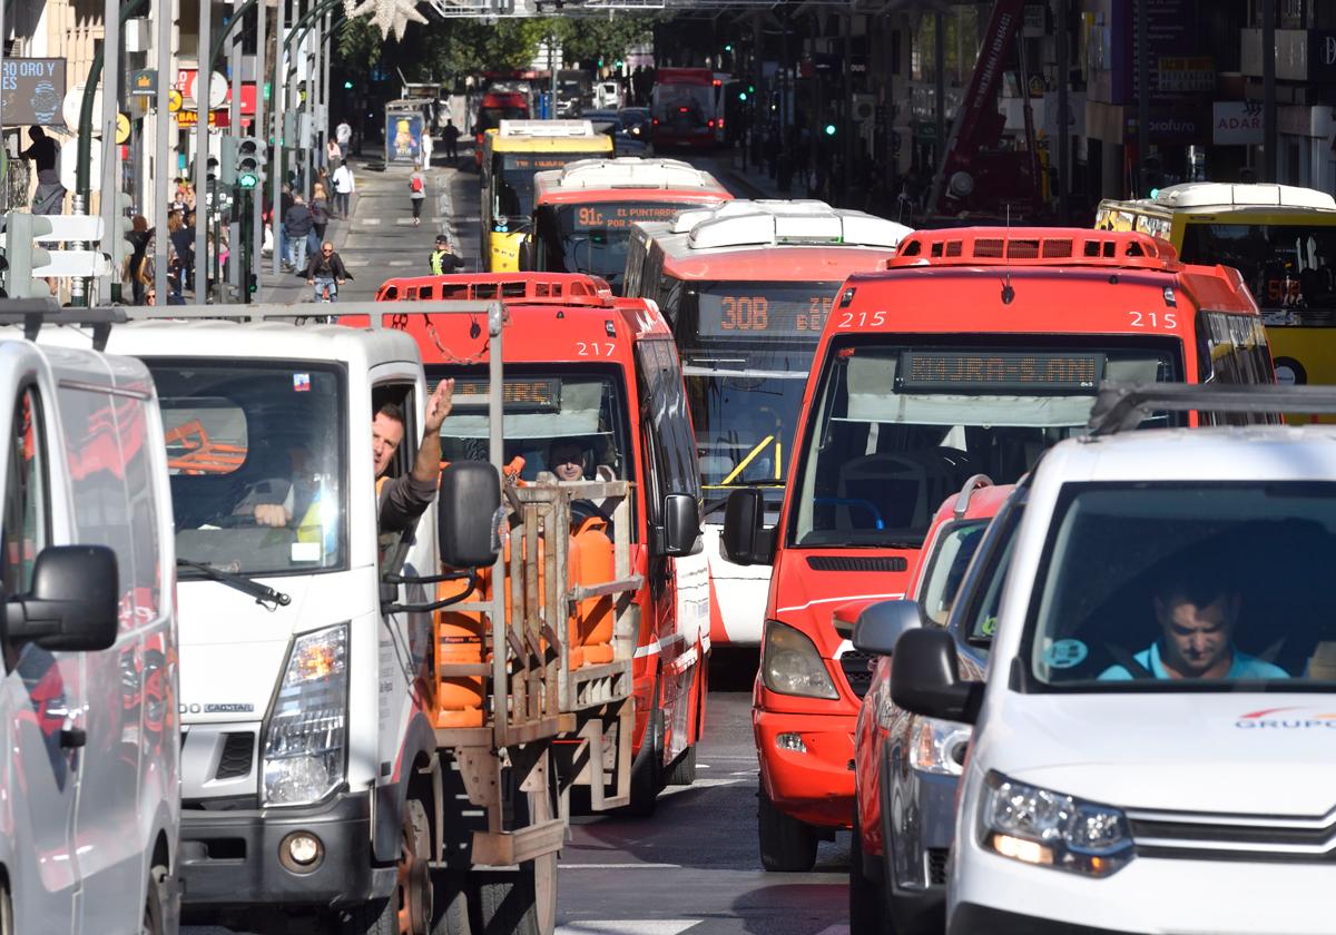
<svg viewBox="0 0 1336 935"><path fill-rule="evenodd" d="M806 338L816 341L835 302L839 283L804 283L783 289L756 283L700 293L696 299L701 338Z"/></svg>

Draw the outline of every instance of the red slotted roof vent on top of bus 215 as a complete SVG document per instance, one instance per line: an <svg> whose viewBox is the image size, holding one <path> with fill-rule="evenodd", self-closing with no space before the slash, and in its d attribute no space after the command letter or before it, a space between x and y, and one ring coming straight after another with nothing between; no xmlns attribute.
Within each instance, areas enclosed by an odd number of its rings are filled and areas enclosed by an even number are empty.
<svg viewBox="0 0 1336 935"><path fill-rule="evenodd" d="M914 231L886 268L904 266L1121 266L1178 268L1166 240L1079 227L955 227Z"/></svg>

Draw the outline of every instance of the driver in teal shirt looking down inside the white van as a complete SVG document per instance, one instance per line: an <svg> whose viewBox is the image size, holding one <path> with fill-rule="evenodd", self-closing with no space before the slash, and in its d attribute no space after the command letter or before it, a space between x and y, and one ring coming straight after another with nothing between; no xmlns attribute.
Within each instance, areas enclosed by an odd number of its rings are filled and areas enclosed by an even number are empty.
<svg viewBox="0 0 1336 935"><path fill-rule="evenodd" d="M1149 648L1112 665L1101 680L1288 679L1279 665L1234 645L1242 598L1220 569L1178 570L1161 578L1153 598L1160 637Z"/></svg>

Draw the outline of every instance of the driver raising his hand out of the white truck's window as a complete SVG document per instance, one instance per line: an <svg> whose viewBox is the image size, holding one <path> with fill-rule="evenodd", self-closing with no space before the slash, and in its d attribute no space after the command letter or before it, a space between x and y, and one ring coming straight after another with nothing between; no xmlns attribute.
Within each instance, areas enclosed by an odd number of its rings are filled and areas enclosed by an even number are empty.
<svg viewBox="0 0 1336 935"><path fill-rule="evenodd" d="M371 454L375 458L375 490L382 533L407 530L436 498L437 477L441 470L441 423L450 414L453 398L453 379L437 383L436 391L426 401L422 441L413 470L402 477L386 478L385 473L403 442L403 410L394 403L385 403L371 419ZM257 504L255 524L271 528L287 526L298 513L294 509L297 488L294 484L281 501Z"/></svg>

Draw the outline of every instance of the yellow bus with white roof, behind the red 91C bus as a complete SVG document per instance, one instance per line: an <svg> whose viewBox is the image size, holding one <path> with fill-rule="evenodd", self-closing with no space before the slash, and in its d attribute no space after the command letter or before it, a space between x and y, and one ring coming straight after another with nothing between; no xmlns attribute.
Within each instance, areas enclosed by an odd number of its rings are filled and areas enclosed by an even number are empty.
<svg viewBox="0 0 1336 935"><path fill-rule="evenodd" d="M482 236L490 272L520 268L533 214L533 174L576 159L612 155L612 138L589 120L502 120L482 140Z"/></svg>

